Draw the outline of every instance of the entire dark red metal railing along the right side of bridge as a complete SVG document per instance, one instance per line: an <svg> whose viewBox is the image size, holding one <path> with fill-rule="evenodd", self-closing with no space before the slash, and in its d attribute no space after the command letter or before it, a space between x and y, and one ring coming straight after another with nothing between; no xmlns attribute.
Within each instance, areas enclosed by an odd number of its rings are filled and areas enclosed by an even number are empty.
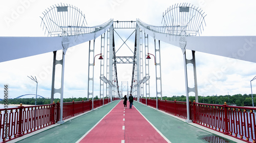
<svg viewBox="0 0 256 143"><path fill-rule="evenodd" d="M146 99L141 98L145 104ZM155 99L147 104L156 108ZM186 102L158 100L158 108L174 116L187 119ZM236 137L246 142L256 142L256 108L217 104L203 104L189 101L190 119L193 123Z"/></svg>

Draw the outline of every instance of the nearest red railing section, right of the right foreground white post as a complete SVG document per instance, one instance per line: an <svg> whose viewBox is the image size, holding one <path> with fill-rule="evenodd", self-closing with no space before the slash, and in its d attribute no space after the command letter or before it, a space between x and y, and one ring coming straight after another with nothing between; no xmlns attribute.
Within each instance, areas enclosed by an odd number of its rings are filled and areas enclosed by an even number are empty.
<svg viewBox="0 0 256 143"><path fill-rule="evenodd" d="M256 141L256 120L252 107L194 102L193 122L246 142Z"/></svg>

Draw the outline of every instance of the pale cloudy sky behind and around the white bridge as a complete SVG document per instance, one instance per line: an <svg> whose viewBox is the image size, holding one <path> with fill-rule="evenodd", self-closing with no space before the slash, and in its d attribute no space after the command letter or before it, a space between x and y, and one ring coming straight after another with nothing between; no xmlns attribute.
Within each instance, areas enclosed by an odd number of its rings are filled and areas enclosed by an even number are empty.
<svg viewBox="0 0 256 143"><path fill-rule="evenodd" d="M177 3L190 3L203 9L207 14L206 26L201 36L255 36L256 9L255 1L3 1L0 5L0 37L46 37L40 27L42 12L54 4L70 4L78 7L86 16L88 26L102 24L113 18L114 21L131 21L136 18L151 25L162 25L162 14L169 6ZM133 31L117 31L123 40ZM115 37L118 45L120 39ZM99 39L96 39L95 54L100 53ZM150 52L154 53L154 39L149 38ZM65 64L64 98L87 97L88 81L88 46L77 45L68 50ZM134 37L127 45L133 50ZM0 44L1 46L1 44ZM1 47L4 48L4 47ZM22 53L21 53L22 54ZM133 55L127 47L122 47L118 55ZM58 54L60 55L60 54ZM9 84L10 98L24 94L35 94L36 83L27 76L38 78L38 95L51 96L53 53L45 53L28 58L0 63L0 83ZM250 94L250 80L256 75L256 64L196 52L198 93L199 95L234 95ZM99 95L99 62L96 61L94 73L94 96ZM183 55L181 49L161 42L162 95L185 95ZM220 72L221 67L228 70ZM118 65L118 80L131 84L132 65ZM58 71L59 72L59 71ZM194 87L191 80L193 69L188 68L189 87ZM150 91L156 95L156 76L153 60L150 61ZM214 81L210 81L214 77ZM57 75L57 79L60 76ZM120 86L120 85L119 85ZM56 88L60 87L56 81ZM256 93L256 81L252 81ZM189 95L193 96L193 93ZM59 95L55 96L56 98Z"/></svg>

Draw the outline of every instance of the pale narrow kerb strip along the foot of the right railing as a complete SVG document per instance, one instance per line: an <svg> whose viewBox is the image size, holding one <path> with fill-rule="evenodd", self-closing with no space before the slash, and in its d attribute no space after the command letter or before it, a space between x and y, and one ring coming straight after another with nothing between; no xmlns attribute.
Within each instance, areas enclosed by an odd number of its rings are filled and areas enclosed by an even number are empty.
<svg viewBox="0 0 256 143"><path fill-rule="evenodd" d="M141 102L138 102L138 103L142 104ZM142 105L145 105L145 104L142 104ZM145 105L145 106L146 106L146 105ZM151 107L151 106L147 106L147 107ZM151 107L151 108L153 108L153 109L155 109L155 110L157 110L157 111L159 111L159 112L162 112L162 113L164 113L165 115L168 115L168 116L170 116L170 117L173 117L173 118L176 118L176 119L178 119L178 120L180 120L180 121L185 122L185 119L182 119L182 118L179 118L179 117L177 117L177 116L171 115L171 114L169 114L169 113L167 113L167 112L165 112L165 111L156 109L156 108L154 108L154 107ZM143 115L142 115L142 116L143 116ZM144 117L144 116L143 116L143 117ZM185 123L186 123L186 122L185 122ZM235 141L235 142L247 143L246 141L243 141L243 140L234 138L234 137L229 136L229 135L225 135L225 134L223 134L223 133L217 132L217 131L215 131L215 130L208 129L208 128L204 127L204 126L201 126L201 125L198 125L198 124L195 124L195 123L187 123L187 124L189 124L189 125L191 125L191 126L194 126L194 127L197 127L197 128L200 128L200 129L205 130L205 131L207 131L207 132L210 132L210 133L213 133L213 134L222 136L222 137L224 137L224 138L227 138L227 139L232 140L232 141ZM154 126L153 126L153 127L154 127Z"/></svg>

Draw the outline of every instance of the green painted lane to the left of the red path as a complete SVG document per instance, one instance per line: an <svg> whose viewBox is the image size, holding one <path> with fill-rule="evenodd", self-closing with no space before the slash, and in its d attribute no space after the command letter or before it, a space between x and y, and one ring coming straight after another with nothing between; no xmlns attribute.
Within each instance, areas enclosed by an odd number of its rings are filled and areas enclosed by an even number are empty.
<svg viewBox="0 0 256 143"><path fill-rule="evenodd" d="M119 100L114 101L111 104L97 108L94 111L86 113L73 120L67 119L67 121L62 125L42 131L17 142L76 142L100 119L102 119L118 102Z"/></svg>

